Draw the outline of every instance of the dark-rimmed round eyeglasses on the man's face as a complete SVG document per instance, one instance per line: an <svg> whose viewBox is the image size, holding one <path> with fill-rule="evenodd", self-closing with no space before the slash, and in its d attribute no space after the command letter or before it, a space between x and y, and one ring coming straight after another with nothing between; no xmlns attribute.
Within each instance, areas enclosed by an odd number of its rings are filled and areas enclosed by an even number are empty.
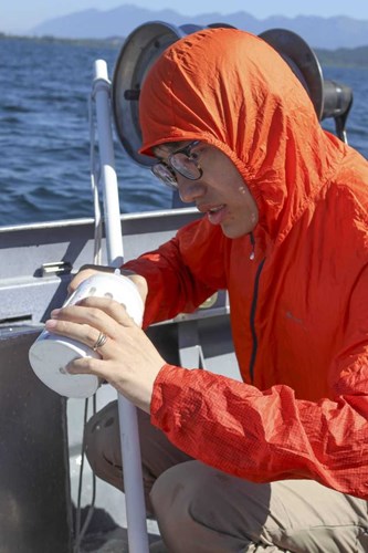
<svg viewBox="0 0 368 553"><path fill-rule="evenodd" d="M185 148L172 152L167 158L167 161L160 161L151 167L155 177L159 178L164 185L169 188L178 189L178 179L176 173L189 180L198 180L203 175L202 169L198 164L198 154L191 152L198 146L200 140L193 140Z"/></svg>

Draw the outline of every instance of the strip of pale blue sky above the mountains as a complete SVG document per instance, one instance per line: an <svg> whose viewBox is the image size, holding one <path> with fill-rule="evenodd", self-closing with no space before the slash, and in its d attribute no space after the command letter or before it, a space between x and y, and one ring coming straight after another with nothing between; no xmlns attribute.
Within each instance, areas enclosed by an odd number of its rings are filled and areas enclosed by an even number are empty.
<svg viewBox="0 0 368 553"><path fill-rule="evenodd" d="M355 19L368 20L367 0L308 0L297 2L295 0L257 0L246 2L244 0L10 0L0 3L0 31L7 33L25 32L32 27L60 15L97 8L106 11L125 3L134 3L137 7L149 10L171 8L182 14L198 13L232 13L235 11L246 11L257 19L265 19L270 15L348 15Z"/></svg>

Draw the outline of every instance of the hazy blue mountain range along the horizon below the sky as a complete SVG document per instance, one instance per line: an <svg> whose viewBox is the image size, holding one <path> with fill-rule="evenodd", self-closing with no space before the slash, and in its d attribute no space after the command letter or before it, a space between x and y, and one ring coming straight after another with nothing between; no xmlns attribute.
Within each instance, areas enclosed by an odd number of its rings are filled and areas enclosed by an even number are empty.
<svg viewBox="0 0 368 553"><path fill-rule="evenodd" d="M133 4L124 4L106 11L90 9L50 19L30 29L28 34L65 39L125 38L136 27L147 21L165 21L177 27L183 24L207 27L221 22L254 34L260 34L267 29L288 29L299 34L312 48L328 50L368 45L368 21L345 15L334 18L272 15L259 20L245 11L239 11L229 14L212 12L190 17L174 10L155 11Z"/></svg>

